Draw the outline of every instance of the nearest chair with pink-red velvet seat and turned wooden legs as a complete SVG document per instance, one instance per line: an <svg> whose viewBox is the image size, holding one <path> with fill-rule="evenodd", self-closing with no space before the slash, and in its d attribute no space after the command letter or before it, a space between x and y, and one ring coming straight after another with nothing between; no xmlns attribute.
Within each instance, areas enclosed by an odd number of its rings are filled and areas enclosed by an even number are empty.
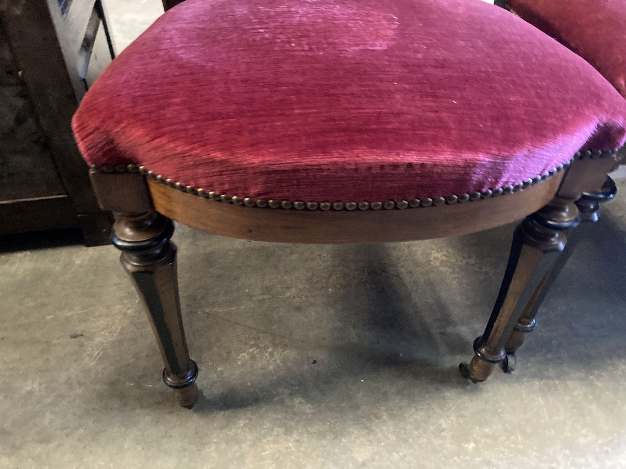
<svg viewBox="0 0 626 469"><path fill-rule="evenodd" d="M198 367L172 220L314 244L523 219L461 365L485 381L580 221L576 202L615 163L626 101L583 59L480 0L187 0L101 74L73 128L98 201L116 213L113 243L163 380L191 407Z"/></svg>

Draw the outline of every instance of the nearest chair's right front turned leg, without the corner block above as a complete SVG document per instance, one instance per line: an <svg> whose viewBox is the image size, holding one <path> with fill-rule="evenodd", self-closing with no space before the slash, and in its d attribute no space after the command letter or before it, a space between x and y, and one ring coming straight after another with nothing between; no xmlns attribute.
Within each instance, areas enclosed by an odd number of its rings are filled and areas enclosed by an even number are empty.
<svg viewBox="0 0 626 469"><path fill-rule="evenodd" d="M513 246L500 293L485 328L474 342L475 356L459 369L466 378L485 381L496 363L506 357L505 342L522 308L528 303L558 254L565 247L565 230L578 224L578 210L571 201L555 197L528 216L513 236Z"/></svg>

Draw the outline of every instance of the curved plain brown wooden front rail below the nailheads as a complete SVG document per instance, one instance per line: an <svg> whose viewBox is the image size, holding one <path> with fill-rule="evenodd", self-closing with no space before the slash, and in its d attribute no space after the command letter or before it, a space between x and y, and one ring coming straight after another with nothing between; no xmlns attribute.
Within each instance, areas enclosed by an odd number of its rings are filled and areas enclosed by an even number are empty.
<svg viewBox="0 0 626 469"><path fill-rule="evenodd" d="M385 243L456 236L511 223L547 204L562 174L515 194L441 207L380 211L249 208L183 193L148 179L159 213L207 233L277 243Z"/></svg>

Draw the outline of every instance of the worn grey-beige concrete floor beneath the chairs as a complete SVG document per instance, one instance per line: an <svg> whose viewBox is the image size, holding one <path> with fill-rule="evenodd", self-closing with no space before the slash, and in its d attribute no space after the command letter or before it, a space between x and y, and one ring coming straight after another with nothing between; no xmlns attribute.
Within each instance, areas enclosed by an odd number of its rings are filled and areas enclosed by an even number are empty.
<svg viewBox="0 0 626 469"><path fill-rule="evenodd" d="M63 232L3 238L0 467L626 467L619 186L518 370L481 385L457 365L485 326L512 226L371 246L178 226L200 365L191 411L161 381L114 248Z"/></svg>

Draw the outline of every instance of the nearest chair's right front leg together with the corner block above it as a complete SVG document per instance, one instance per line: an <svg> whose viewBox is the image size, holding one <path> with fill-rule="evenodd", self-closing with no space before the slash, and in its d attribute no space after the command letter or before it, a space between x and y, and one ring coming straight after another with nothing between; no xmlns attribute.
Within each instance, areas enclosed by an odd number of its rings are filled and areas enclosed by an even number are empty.
<svg viewBox="0 0 626 469"><path fill-rule="evenodd" d="M583 193L602 186L616 163L614 151L583 151L579 155L568 165L552 201L528 216L515 231L505 278L485 333L475 340L475 356L469 365L459 365L461 374L475 383L485 381L496 363L505 360L505 345L518 319L526 305L539 299L558 255L565 249L565 232L580 222L575 202Z"/></svg>

